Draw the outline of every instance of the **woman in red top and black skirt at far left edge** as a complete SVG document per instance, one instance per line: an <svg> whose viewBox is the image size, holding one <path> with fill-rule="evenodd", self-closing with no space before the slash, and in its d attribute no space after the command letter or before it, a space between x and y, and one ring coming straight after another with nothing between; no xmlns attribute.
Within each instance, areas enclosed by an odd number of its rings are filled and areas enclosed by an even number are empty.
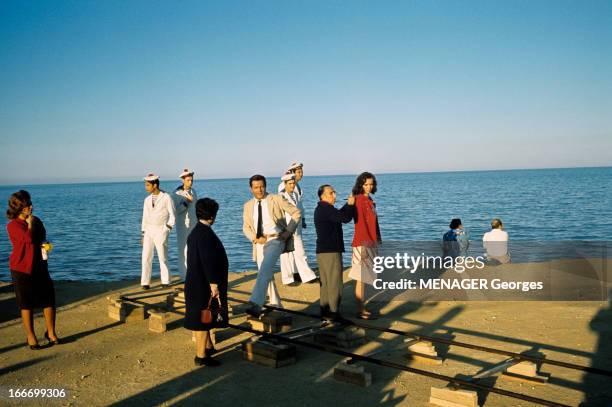
<svg viewBox="0 0 612 407"><path fill-rule="evenodd" d="M40 349L34 333L34 309L42 308L49 345L59 343L55 333L55 289L47 268L45 227L40 219L32 216L32 199L27 191L15 192L8 201L6 225L13 251L9 268L15 287L17 305L27 335L30 349Z"/></svg>

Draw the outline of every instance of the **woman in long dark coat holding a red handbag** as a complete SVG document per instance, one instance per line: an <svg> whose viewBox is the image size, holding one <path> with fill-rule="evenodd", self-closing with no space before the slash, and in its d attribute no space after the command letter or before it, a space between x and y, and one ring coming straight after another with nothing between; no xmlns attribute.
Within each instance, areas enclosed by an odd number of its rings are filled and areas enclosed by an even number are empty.
<svg viewBox="0 0 612 407"><path fill-rule="evenodd" d="M185 278L185 328L195 331L196 366L218 366L221 363L212 358L215 352L209 331L218 326L201 322L201 312L220 300L227 321L227 254L223 243L211 226L215 222L219 204L210 198L196 202L198 223L187 238L187 276Z"/></svg>

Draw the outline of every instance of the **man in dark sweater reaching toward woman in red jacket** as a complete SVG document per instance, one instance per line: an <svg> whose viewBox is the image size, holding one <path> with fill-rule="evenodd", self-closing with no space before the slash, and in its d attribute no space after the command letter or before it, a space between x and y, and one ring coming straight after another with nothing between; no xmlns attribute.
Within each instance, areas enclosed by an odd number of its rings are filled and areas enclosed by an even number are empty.
<svg viewBox="0 0 612 407"><path fill-rule="evenodd" d="M321 281L321 316L341 320L342 298L342 253L344 237L342 224L355 216L355 197L350 195L347 203L336 209L336 191L331 185L321 185L318 190L319 203L315 209L317 230L317 263Z"/></svg>

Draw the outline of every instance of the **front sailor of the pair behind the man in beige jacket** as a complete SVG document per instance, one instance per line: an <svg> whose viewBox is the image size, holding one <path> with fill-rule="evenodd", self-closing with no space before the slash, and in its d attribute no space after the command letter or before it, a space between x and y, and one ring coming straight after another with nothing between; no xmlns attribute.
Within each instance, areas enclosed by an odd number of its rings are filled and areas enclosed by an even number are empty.
<svg viewBox="0 0 612 407"><path fill-rule="evenodd" d="M296 192L295 174L287 172L281 177L285 190L282 195L289 203L297 207L301 213L304 213L304 206L302 200ZM289 214L285 214L287 222L291 220ZM303 219L303 217L302 217ZM294 251L283 253L280 256L281 260L281 277L283 284L291 284L294 282L294 274L299 273L300 279L303 283L314 281L317 276L308 266L306 261L306 251L304 250L304 243L302 241L302 225L298 223L298 227L293 232L293 246Z"/></svg>

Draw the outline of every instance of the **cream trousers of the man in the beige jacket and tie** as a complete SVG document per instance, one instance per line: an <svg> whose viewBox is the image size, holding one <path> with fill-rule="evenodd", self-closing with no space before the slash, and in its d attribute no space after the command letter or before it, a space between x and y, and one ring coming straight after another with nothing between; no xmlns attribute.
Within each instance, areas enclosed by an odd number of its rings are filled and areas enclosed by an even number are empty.
<svg viewBox="0 0 612 407"><path fill-rule="evenodd" d="M282 307L274 283L274 266L285 249L285 242L277 238L271 238L265 244L257 243L255 249L257 250L257 268L259 271L250 301L261 307L266 302L267 294L271 305Z"/></svg>

